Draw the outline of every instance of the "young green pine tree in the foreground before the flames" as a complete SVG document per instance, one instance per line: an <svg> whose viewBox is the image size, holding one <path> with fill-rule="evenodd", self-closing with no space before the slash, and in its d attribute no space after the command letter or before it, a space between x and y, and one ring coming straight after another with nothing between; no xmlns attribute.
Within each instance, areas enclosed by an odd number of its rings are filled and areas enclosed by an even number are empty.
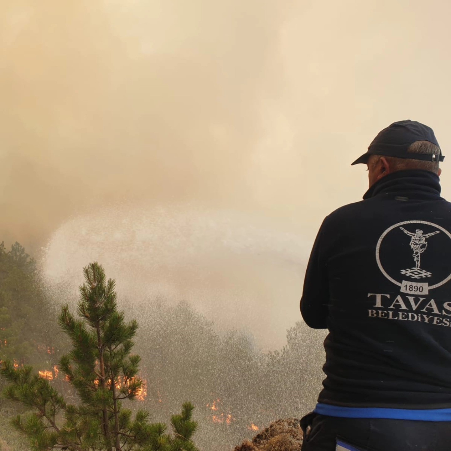
<svg viewBox="0 0 451 451"><path fill-rule="evenodd" d="M135 320L126 322L117 309L115 281L97 262L84 268L78 316L62 308L59 324L72 342L60 369L78 393L78 405L68 405L49 381L33 374L31 366L15 368L7 361L1 374L9 382L4 395L34 412L12 421L30 438L33 450L47 451L197 451L191 437L198 424L193 405L184 403L172 416L173 434L163 423L149 423L149 414L123 407L143 387L138 377L140 357L132 354Z"/></svg>

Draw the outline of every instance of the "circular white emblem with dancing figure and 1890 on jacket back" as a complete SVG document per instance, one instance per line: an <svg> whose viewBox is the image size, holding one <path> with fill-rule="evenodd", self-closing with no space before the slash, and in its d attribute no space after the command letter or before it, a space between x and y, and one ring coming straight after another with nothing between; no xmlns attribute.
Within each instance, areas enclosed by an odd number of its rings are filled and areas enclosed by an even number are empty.
<svg viewBox="0 0 451 451"><path fill-rule="evenodd" d="M451 279L451 234L428 221L389 227L376 245L382 274L405 293L428 294Z"/></svg>

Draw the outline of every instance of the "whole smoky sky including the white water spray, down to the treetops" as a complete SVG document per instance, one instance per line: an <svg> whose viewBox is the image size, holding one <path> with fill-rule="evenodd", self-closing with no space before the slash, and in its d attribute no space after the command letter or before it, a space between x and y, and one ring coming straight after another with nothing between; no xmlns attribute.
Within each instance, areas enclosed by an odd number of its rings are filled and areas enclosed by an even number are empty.
<svg viewBox="0 0 451 451"><path fill-rule="evenodd" d="M189 299L283 345L318 226L361 199L366 167L350 163L379 130L432 126L451 198L450 14L0 0L0 241L45 248L52 281L76 286L97 259L122 295Z"/></svg>

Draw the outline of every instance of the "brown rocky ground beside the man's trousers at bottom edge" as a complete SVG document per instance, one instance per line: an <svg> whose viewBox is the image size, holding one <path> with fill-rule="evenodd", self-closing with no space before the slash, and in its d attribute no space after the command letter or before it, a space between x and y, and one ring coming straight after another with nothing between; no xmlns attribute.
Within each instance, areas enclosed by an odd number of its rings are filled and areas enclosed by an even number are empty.
<svg viewBox="0 0 451 451"><path fill-rule="evenodd" d="M287 418L271 423L266 429L235 447L235 451L300 451L302 430L299 419Z"/></svg>

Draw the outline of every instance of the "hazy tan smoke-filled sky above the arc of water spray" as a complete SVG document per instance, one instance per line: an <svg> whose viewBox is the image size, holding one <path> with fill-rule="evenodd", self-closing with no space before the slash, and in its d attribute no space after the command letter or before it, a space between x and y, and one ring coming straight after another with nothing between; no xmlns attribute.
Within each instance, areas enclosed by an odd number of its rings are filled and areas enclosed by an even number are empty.
<svg viewBox="0 0 451 451"><path fill-rule="evenodd" d="M383 127L422 121L450 153L444 0L0 5L6 242L118 202L255 212L311 240L361 198L350 162Z"/></svg>

